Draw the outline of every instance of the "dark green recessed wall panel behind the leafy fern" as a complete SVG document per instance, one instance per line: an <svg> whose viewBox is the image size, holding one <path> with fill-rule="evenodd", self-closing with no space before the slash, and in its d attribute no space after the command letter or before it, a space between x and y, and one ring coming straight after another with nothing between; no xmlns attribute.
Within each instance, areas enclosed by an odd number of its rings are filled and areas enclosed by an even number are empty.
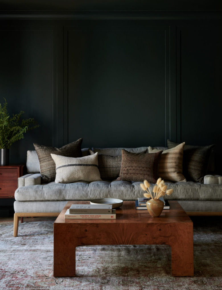
<svg viewBox="0 0 222 290"><path fill-rule="evenodd" d="M8 28L0 31L0 102L10 115L25 112L40 128L28 131L10 150L10 162L24 162L33 143L53 145L53 31Z"/></svg>

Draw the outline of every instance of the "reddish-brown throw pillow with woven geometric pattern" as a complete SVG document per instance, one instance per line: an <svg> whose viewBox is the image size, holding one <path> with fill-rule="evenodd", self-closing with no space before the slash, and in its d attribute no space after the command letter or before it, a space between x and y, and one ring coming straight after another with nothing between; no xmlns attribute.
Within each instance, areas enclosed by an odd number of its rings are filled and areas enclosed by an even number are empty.
<svg viewBox="0 0 222 290"><path fill-rule="evenodd" d="M117 180L156 183L161 153L131 153L122 149L122 164Z"/></svg>

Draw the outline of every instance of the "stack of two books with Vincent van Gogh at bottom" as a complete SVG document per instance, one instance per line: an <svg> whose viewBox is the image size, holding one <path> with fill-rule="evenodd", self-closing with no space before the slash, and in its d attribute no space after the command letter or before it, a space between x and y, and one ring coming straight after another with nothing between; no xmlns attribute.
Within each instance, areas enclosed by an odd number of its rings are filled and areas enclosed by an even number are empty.
<svg viewBox="0 0 222 290"><path fill-rule="evenodd" d="M65 219L115 219L116 210L112 204L72 204L65 213Z"/></svg>

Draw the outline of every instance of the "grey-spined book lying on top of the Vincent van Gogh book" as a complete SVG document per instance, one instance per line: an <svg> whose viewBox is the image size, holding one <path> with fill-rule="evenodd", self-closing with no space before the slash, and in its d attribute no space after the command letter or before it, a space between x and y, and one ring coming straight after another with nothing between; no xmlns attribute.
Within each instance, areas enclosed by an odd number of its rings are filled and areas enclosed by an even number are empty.
<svg viewBox="0 0 222 290"><path fill-rule="evenodd" d="M112 204L72 204L70 214L111 214Z"/></svg>

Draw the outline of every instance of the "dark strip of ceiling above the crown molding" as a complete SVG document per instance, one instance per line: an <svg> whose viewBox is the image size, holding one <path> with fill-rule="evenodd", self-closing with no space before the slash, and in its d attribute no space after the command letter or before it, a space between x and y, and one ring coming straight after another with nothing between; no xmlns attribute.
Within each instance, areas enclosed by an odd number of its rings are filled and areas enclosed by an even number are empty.
<svg viewBox="0 0 222 290"><path fill-rule="evenodd" d="M221 11L222 0L0 0L1 11Z"/></svg>

